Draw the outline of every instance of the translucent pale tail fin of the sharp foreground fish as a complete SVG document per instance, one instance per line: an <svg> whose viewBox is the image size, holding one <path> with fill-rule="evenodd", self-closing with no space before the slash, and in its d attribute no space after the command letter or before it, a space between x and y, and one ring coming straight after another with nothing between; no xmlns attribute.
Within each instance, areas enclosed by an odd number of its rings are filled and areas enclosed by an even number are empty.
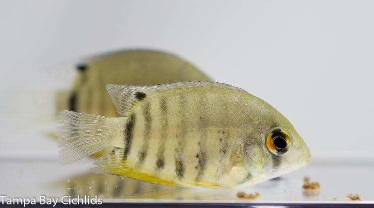
<svg viewBox="0 0 374 208"><path fill-rule="evenodd" d="M56 135L59 161L69 164L114 145L118 119L99 115L61 111Z"/></svg>

